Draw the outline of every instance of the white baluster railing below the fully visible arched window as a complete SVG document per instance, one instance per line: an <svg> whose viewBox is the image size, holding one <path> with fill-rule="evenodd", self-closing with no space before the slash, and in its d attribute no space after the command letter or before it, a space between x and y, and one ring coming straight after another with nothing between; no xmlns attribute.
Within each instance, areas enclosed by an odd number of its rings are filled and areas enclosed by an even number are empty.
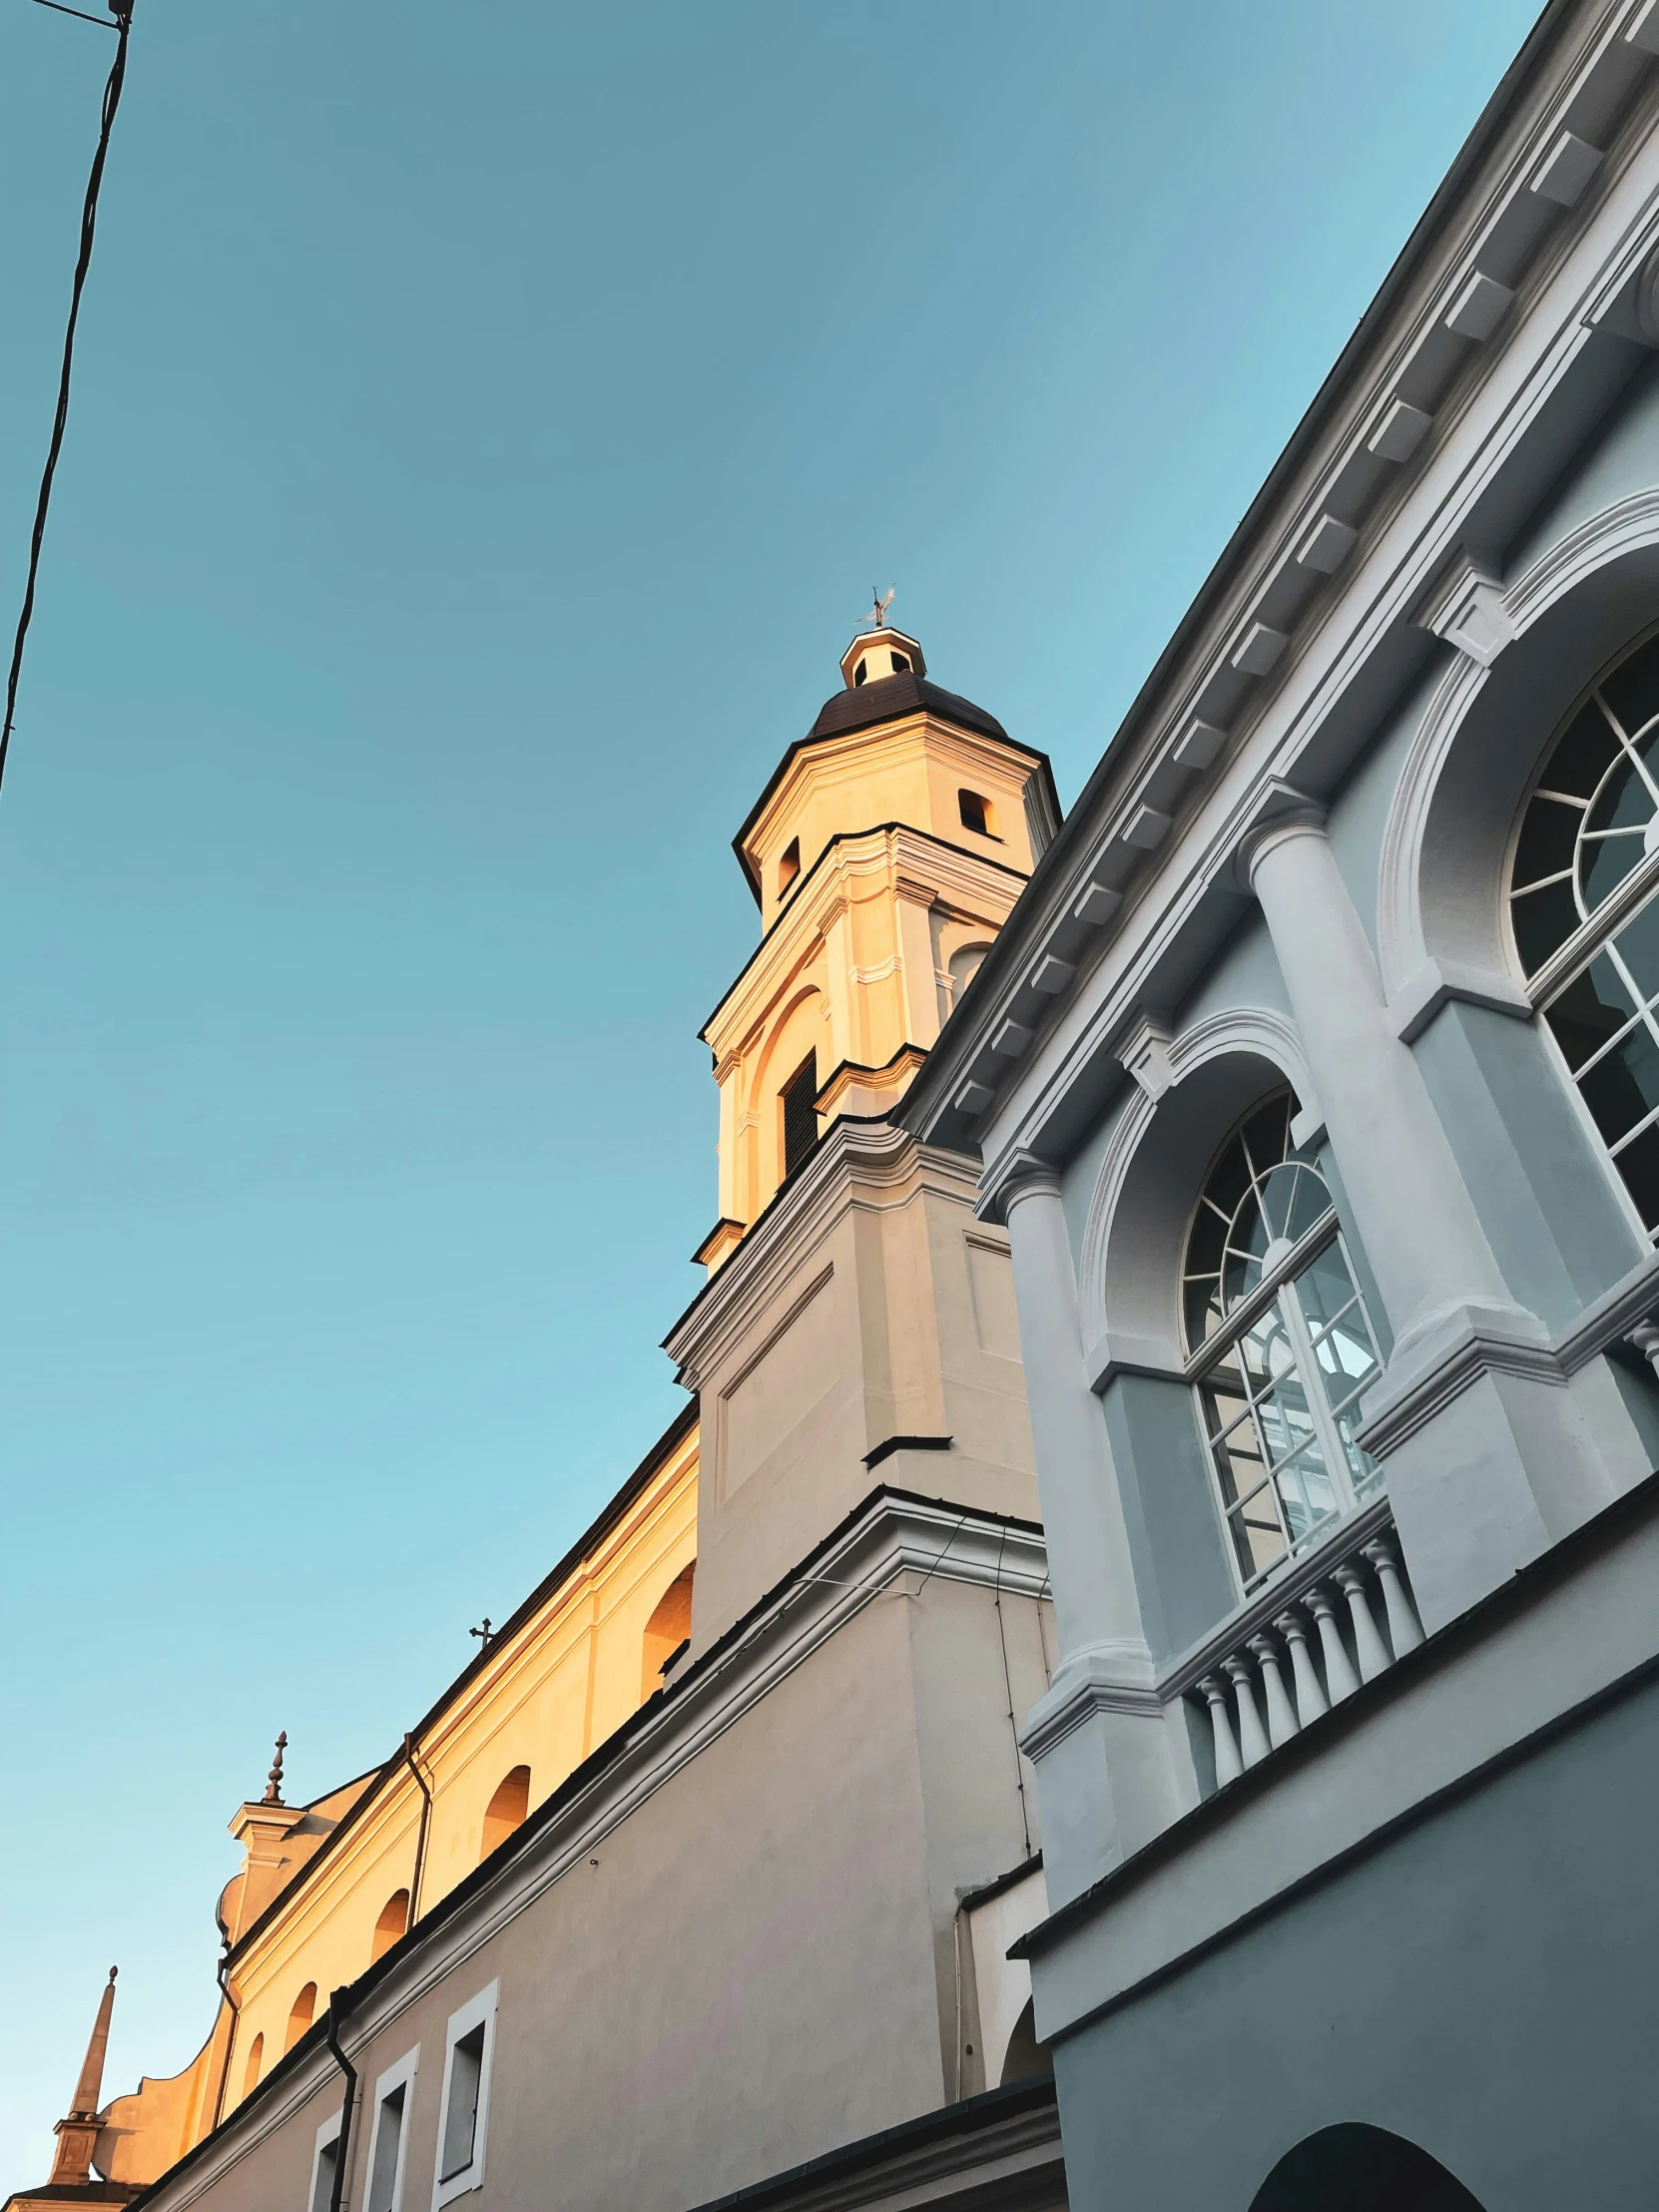
<svg viewBox="0 0 1659 2212"><path fill-rule="evenodd" d="M1418 1644L1394 1515L1378 1498L1194 1646L1159 1690L1203 1717L1214 1787L1225 1790Z"/></svg>

